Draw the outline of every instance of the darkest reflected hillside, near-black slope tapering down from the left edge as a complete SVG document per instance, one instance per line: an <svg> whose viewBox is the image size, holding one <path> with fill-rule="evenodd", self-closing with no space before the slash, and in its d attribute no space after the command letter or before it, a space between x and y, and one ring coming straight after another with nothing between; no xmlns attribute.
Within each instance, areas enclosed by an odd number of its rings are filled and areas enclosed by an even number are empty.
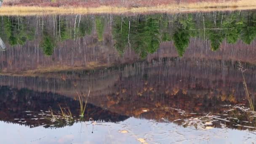
<svg viewBox="0 0 256 144"><path fill-rule="evenodd" d="M0 120L11 123L25 124L32 127L44 125L45 128L54 124L51 112L56 114L62 109L69 108L74 119L79 119L79 101L60 96L54 93L38 93L27 89L0 88ZM55 114L55 115L56 115ZM127 119L127 116L118 115L106 109L101 109L93 104L87 104L83 121L95 120L97 122L119 122ZM79 119L80 120L80 119ZM78 121L73 121L73 123ZM62 127L72 125L64 123L57 125Z"/></svg>

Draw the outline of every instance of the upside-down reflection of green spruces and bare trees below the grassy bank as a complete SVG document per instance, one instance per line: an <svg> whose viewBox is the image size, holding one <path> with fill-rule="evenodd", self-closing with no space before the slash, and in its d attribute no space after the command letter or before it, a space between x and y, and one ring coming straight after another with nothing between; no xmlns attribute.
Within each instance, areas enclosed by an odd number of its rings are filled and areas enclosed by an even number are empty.
<svg viewBox="0 0 256 144"><path fill-rule="evenodd" d="M139 59L205 57L255 64L253 11L4 16L2 73L93 69ZM215 51L215 52L213 52Z"/></svg>

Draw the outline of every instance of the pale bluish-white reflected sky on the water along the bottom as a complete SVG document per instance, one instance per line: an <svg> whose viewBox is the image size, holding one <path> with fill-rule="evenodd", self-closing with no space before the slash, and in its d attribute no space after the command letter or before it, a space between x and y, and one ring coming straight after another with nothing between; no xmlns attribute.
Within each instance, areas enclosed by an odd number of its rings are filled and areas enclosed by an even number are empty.
<svg viewBox="0 0 256 144"><path fill-rule="evenodd" d="M88 122L86 123L88 124ZM92 125L76 123L71 127L45 129L43 127L28 128L0 122L1 141L7 143L34 144L139 144L139 138L148 143L252 143L256 135L249 131L213 128L196 130L183 128L172 123L156 123L152 120L129 118L121 123L97 123ZM128 133L120 133L126 130ZM16 136L15 139L12 136Z"/></svg>

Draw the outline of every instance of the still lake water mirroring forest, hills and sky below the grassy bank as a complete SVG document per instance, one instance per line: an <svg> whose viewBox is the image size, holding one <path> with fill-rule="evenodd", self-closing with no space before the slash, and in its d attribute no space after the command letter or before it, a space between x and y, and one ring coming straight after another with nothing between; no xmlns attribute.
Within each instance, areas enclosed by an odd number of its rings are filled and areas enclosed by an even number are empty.
<svg viewBox="0 0 256 144"><path fill-rule="evenodd" d="M1 16L0 143L255 143L255 13Z"/></svg>

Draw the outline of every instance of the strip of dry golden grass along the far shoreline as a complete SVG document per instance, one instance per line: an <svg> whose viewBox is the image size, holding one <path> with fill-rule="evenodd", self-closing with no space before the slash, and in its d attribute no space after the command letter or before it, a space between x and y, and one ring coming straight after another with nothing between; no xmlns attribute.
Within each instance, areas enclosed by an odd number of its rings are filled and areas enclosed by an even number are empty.
<svg viewBox="0 0 256 144"><path fill-rule="evenodd" d="M87 14L87 13L148 13L148 12L193 12L193 11L227 11L256 9L256 0L240 0L222 3L200 2L173 5L159 5L155 7L36 7L36 6L5 6L0 8L0 15L36 15L36 14Z"/></svg>

